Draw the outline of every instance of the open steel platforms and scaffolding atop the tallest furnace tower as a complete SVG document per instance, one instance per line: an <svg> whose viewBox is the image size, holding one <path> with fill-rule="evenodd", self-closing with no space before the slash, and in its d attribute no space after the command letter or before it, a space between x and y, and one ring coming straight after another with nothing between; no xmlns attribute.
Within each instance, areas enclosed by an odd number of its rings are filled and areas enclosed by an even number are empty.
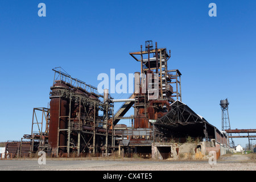
<svg viewBox="0 0 256 182"><path fill-rule="evenodd" d="M129 54L141 62L141 74L146 75L147 71L151 70L155 75L158 75L159 100L168 100L171 103L175 100L181 101L181 73L178 69L167 69L167 61L171 57L171 51L168 53L166 48L158 48L157 43L153 49L152 41L147 40L145 51L142 50L141 46L140 52L130 52Z"/></svg>

